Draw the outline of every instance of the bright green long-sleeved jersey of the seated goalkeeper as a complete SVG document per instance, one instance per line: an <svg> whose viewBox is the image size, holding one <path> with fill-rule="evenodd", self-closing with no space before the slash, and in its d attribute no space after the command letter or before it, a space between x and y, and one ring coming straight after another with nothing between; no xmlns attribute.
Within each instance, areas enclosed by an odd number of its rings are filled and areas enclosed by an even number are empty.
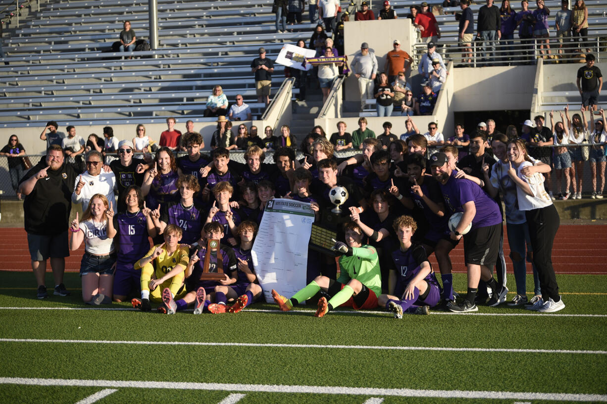
<svg viewBox="0 0 607 404"><path fill-rule="evenodd" d="M337 279L338 282L346 284L350 279L356 279L377 296L381 294L381 272L375 247L366 244L354 247L352 255L342 255L339 258L339 268L341 275Z"/></svg>

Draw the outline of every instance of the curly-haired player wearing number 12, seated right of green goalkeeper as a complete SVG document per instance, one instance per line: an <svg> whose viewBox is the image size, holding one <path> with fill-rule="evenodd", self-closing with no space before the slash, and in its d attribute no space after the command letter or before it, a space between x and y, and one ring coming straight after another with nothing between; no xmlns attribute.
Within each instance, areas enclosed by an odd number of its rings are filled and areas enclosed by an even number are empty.
<svg viewBox="0 0 607 404"><path fill-rule="evenodd" d="M402 318L403 312L430 314L428 308L438 305L441 291L426 250L411 241L417 223L410 216L401 216L393 226L401 247L392 253L396 268L390 273L392 294L379 296L379 305L394 312L395 318Z"/></svg>

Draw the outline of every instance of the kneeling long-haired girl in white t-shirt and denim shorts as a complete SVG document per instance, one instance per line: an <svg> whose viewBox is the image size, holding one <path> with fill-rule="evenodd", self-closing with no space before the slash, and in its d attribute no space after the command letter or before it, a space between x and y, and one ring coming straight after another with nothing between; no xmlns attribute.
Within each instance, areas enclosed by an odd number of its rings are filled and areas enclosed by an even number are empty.
<svg viewBox="0 0 607 404"><path fill-rule="evenodd" d="M104 195L95 194L90 198L89 207L84 211L82 221L72 220L70 249L76 251L84 241L84 255L80 263L82 278L82 300L85 303L111 303L112 284L116 254L114 252L114 210Z"/></svg>

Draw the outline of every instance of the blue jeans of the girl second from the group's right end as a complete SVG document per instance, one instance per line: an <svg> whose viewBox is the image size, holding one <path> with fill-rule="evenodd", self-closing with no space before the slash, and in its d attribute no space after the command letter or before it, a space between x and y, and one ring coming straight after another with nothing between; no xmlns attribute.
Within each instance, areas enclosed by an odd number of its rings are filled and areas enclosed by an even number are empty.
<svg viewBox="0 0 607 404"><path fill-rule="evenodd" d="M517 284L517 294L527 294L527 263L525 261L526 251L531 251L531 238L529 238L529 227L527 223L512 224L506 222L506 233L510 245L510 259L514 269L514 281ZM529 247L527 247L529 246ZM516 256L518 255L518 257ZM520 258L515 261L514 258ZM541 295L540 277L535 264L532 264L534 295Z"/></svg>

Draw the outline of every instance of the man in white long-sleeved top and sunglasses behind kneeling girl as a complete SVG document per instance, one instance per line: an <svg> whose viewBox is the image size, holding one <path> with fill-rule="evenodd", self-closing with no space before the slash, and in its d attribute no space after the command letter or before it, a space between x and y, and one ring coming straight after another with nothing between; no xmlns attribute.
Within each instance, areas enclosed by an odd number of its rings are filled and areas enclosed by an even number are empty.
<svg viewBox="0 0 607 404"><path fill-rule="evenodd" d="M129 141L120 141L120 146L131 146ZM97 150L92 150L86 155L86 171L81 173L74 183L72 202L80 203L82 210L89 207L90 199L95 194L101 194L107 198L110 207L116 210L114 189L116 187L116 176L113 172L104 172L103 158Z"/></svg>

